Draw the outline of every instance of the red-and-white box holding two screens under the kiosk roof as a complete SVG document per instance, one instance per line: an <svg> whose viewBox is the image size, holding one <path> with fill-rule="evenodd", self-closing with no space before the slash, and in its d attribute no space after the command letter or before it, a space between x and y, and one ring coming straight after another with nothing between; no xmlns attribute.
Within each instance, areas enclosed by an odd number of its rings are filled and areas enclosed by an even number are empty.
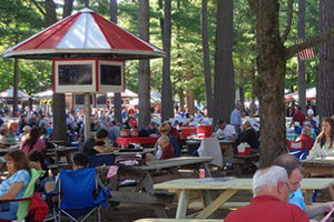
<svg viewBox="0 0 334 222"><path fill-rule="evenodd" d="M53 91L57 93L122 92L124 61L106 59L55 59Z"/></svg>

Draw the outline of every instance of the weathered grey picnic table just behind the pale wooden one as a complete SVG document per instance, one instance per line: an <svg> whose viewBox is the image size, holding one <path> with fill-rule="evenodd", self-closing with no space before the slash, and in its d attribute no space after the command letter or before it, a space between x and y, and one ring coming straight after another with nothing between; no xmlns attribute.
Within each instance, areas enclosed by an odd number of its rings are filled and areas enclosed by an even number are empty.
<svg viewBox="0 0 334 222"><path fill-rule="evenodd" d="M112 195L112 201L120 203L137 203L150 204L155 209L158 218L166 218L165 205L170 203L174 194L154 190L154 184L176 178L183 178L178 172L179 169L199 169L207 170L207 175L210 175L207 164L212 158L173 158L168 160L159 160L148 162L141 167L119 168L118 173L110 180L109 186ZM105 171L109 168L105 168ZM124 186L124 180L132 180L135 183Z"/></svg>

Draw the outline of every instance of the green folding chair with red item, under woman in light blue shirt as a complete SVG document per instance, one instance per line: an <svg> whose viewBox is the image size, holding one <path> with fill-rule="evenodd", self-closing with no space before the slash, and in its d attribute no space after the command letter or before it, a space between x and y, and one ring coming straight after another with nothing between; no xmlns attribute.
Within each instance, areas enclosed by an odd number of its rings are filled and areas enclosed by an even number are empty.
<svg viewBox="0 0 334 222"><path fill-rule="evenodd" d="M30 169L30 182L28 183L28 186L23 193L23 196L20 199L11 199L6 201L0 201L0 214L1 212L9 211L9 205L11 202L19 201L19 208L17 212L17 220L23 220L29 218L33 221L42 221L47 214L48 214L48 205L40 199L39 194L35 192L35 185L36 181L45 173L45 171L37 171L35 169ZM30 204L32 204L32 201L39 201L39 209L30 208ZM40 202L42 201L42 202ZM36 204L36 202L35 202ZM32 210L33 212L29 211ZM39 213L37 215L37 213ZM37 219L38 218L38 219Z"/></svg>

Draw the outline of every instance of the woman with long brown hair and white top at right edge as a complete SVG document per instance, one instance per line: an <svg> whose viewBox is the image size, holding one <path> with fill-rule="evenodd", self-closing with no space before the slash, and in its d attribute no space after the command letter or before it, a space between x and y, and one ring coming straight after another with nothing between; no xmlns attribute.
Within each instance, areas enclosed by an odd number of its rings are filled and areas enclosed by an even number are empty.
<svg viewBox="0 0 334 222"><path fill-rule="evenodd" d="M331 118L323 118L322 132L316 138L307 160L321 157L334 157L334 121Z"/></svg>

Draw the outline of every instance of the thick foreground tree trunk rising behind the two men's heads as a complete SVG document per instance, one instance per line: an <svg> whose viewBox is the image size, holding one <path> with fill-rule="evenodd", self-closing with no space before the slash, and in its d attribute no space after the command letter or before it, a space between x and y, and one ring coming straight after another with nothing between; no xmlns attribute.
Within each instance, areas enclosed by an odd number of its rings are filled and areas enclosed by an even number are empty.
<svg viewBox="0 0 334 222"><path fill-rule="evenodd" d="M256 16L261 167L285 152L284 77L286 49L279 38L277 0L248 0Z"/></svg>

